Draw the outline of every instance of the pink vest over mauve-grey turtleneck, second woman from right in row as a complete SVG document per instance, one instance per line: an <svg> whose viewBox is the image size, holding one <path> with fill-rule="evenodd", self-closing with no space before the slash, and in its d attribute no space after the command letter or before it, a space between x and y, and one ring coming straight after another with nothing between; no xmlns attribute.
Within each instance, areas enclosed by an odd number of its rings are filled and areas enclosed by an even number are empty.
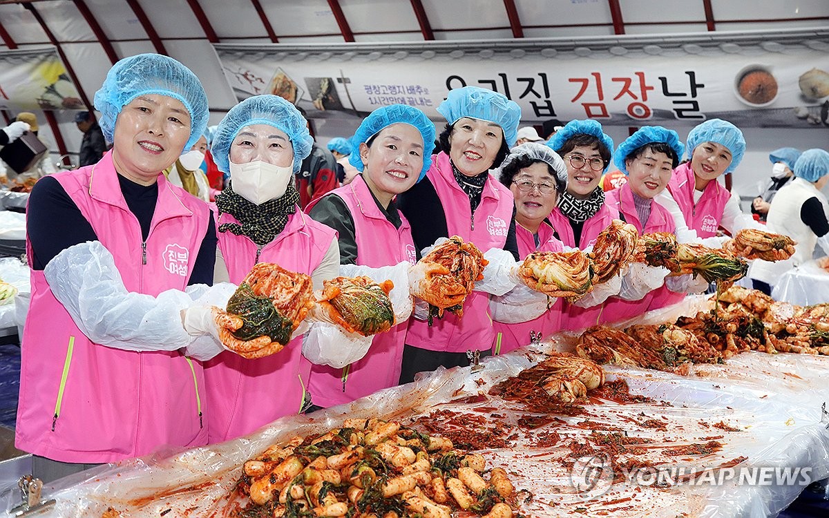
<svg viewBox="0 0 829 518"><path fill-rule="evenodd" d="M629 183L606 193L605 202L624 215L625 221L635 226L640 235L651 234L652 232L671 232L672 234L676 230L671 212L659 205L657 201L652 201L651 215L647 218L645 225L642 226L636 212L636 206L633 205L633 191L631 191ZM624 300L611 297L605 301L604 312L602 312L599 320L600 322L626 320L657 307L662 307L662 305L679 302L684 296L682 293L673 293L662 286L662 288L657 288L645 295L642 300Z"/></svg>

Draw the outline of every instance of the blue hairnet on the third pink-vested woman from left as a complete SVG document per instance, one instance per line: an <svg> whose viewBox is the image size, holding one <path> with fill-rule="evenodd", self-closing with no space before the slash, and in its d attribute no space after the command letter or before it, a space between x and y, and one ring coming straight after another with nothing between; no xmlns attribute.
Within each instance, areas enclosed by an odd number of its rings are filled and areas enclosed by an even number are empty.
<svg viewBox="0 0 829 518"><path fill-rule="evenodd" d="M380 133L386 126L396 123L414 126L423 138L423 169L420 171L420 176L417 179L420 182L426 176L426 172L429 171L429 167L432 165L434 124L422 111L406 104L383 106L371 112L366 119L363 119L360 127L357 128L354 136L351 137L351 154L348 156L348 162L356 167L357 171L362 171L363 163L360 157L360 144L368 141L377 133Z"/></svg>

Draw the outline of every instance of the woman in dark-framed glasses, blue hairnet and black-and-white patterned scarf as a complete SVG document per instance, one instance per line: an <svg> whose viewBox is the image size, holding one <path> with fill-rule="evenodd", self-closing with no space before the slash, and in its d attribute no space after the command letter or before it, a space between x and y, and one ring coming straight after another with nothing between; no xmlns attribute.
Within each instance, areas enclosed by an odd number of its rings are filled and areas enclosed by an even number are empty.
<svg viewBox="0 0 829 518"><path fill-rule="evenodd" d="M567 190L559 196L550 222L565 246L587 249L596 242L599 232L618 219L618 211L605 203L599 186L610 165L613 139L595 120L572 120L547 145L564 158L567 166ZM602 305L578 307L565 302L562 312L562 327L578 330L599 322Z"/></svg>

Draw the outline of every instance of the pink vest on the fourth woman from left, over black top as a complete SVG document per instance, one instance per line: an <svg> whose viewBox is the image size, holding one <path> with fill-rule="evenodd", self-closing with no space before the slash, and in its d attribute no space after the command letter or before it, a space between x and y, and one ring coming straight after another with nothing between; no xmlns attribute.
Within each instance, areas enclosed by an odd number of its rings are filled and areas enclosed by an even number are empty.
<svg viewBox="0 0 829 518"><path fill-rule="evenodd" d="M491 248L502 249L507 242L507 232L512 219L515 201L512 192L490 176L483 186L481 203L475 217L469 206L469 197L455 182L452 166L446 153L440 152L426 173L437 191L446 214L449 235L459 235L464 241L472 241L486 252ZM463 303L463 317L444 312L441 320L434 319L432 327L416 318L410 319L406 343L428 351L465 352L485 351L495 341L495 330L489 315L489 295L470 293Z"/></svg>

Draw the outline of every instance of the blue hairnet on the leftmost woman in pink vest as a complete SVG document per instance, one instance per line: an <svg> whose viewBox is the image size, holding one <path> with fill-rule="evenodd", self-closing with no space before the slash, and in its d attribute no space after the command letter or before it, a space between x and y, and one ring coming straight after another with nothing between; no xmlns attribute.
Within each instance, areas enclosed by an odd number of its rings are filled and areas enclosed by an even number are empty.
<svg viewBox="0 0 829 518"><path fill-rule="evenodd" d="M104 85L95 92L95 109L100 113L101 131L114 142L115 121L125 105L139 95L159 94L178 99L190 113L190 149L201 138L210 116L207 95L199 78L172 57L138 54L112 65Z"/></svg>

